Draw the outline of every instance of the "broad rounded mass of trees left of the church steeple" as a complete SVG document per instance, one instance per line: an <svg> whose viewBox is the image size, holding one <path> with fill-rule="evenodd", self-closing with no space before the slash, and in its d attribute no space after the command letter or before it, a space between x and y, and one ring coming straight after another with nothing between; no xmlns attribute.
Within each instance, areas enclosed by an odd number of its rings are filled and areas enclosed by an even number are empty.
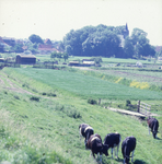
<svg viewBox="0 0 162 164"><path fill-rule="evenodd" d="M111 57L118 50L119 38L113 26L85 26L71 30L63 38L66 51L74 56L105 56Z"/></svg>

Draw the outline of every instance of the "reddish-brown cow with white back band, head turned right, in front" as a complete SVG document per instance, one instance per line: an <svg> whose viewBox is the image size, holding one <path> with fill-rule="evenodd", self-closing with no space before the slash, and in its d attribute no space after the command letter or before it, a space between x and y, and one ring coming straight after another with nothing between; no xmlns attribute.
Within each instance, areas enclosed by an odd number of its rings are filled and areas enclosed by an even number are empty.
<svg viewBox="0 0 162 164"><path fill-rule="evenodd" d="M93 157L95 154L100 154L100 162L102 163L102 154L108 155L108 145L102 143L101 136L95 133L92 134L88 141L88 148L91 150Z"/></svg>

